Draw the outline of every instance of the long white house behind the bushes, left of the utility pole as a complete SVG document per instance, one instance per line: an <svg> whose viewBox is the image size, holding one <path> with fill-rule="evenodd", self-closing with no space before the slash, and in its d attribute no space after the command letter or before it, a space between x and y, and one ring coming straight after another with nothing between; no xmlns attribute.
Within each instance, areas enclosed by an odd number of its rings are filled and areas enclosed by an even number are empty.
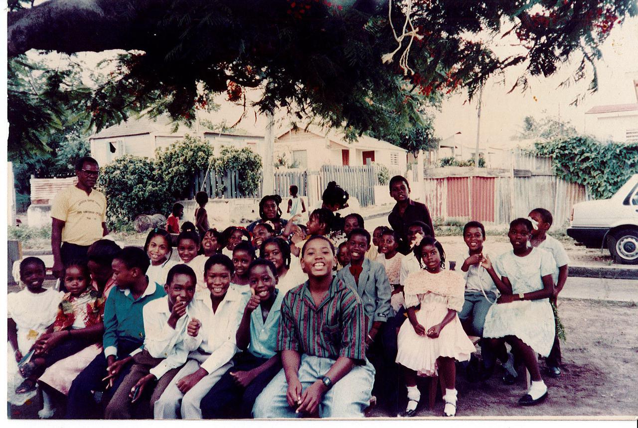
<svg viewBox="0 0 638 428"><path fill-rule="evenodd" d="M149 117L129 118L126 122L93 134L89 137L91 156L98 161L100 166L106 165L122 155L145 156L152 159L155 157L156 148L166 147L177 140L184 139L186 134L200 136L216 148L222 145L237 148L249 147L255 152L257 152L258 143L263 141L263 136L259 135L198 132L195 127L189 128L184 124L179 124L175 130L175 124L171 122L170 118L162 115L156 119Z"/></svg>

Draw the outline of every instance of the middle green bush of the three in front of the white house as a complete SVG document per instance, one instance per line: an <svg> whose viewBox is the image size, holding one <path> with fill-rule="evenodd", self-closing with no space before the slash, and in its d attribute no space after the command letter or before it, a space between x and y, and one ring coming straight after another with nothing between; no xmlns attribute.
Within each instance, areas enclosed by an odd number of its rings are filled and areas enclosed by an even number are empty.
<svg viewBox="0 0 638 428"><path fill-rule="evenodd" d="M187 197L195 173L207 171L212 152L209 143L188 134L181 141L158 148L155 152L155 168L158 176L166 183L168 196L174 199Z"/></svg>

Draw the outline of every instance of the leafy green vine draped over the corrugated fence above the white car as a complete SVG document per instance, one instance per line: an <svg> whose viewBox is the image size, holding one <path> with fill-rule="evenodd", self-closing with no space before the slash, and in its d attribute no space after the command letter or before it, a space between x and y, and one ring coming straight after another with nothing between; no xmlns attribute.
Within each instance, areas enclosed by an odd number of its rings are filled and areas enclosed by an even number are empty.
<svg viewBox="0 0 638 428"><path fill-rule="evenodd" d="M551 157L556 175L584 185L595 199L611 197L638 173L638 143L601 144L576 136L535 143L535 152Z"/></svg>

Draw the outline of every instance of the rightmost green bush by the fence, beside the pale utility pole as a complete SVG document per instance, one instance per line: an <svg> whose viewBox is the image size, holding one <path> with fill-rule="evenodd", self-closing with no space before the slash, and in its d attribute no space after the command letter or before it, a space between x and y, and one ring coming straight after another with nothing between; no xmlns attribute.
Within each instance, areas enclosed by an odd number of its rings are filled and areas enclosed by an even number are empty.
<svg viewBox="0 0 638 428"><path fill-rule="evenodd" d="M228 171L239 172L239 191L253 195L259 189L262 173L262 158L248 147L223 146L219 156L212 160L212 168L219 175Z"/></svg>

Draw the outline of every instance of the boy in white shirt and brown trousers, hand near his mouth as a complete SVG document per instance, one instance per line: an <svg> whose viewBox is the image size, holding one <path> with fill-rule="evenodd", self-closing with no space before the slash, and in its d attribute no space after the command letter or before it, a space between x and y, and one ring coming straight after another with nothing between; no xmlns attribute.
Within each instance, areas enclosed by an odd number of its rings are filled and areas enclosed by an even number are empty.
<svg viewBox="0 0 638 428"><path fill-rule="evenodd" d="M196 287L197 276L191 267L177 264L168 271L164 286L167 296L144 306L144 345L134 352L135 363L108 403L105 418L130 419L133 404L152 387L151 382L159 380L151 397L152 406L186 362L188 353L200 345L201 324L190 315Z"/></svg>

